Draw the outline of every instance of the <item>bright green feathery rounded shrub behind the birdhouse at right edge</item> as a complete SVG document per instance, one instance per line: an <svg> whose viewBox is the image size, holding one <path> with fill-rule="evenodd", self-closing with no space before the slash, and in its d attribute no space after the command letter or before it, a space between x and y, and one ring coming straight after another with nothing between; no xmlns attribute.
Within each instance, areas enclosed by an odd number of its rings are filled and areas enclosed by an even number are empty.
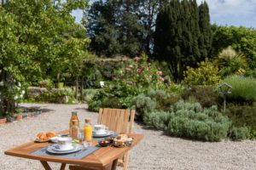
<svg viewBox="0 0 256 170"><path fill-rule="evenodd" d="M237 103L247 102L248 104L252 104L256 101L255 78L233 75L224 78L223 82L227 82L232 86L232 94L228 95L230 101Z"/></svg>

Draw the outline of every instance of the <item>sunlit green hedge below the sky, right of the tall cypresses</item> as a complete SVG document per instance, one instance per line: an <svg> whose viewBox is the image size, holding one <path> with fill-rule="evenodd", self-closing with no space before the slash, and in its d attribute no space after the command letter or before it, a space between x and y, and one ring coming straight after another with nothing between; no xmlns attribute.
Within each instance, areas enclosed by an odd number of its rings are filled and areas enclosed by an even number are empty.
<svg viewBox="0 0 256 170"><path fill-rule="evenodd" d="M217 56L224 48L232 46L236 51L245 54L247 64L256 68L256 31L254 28L236 26L214 26L212 55Z"/></svg>

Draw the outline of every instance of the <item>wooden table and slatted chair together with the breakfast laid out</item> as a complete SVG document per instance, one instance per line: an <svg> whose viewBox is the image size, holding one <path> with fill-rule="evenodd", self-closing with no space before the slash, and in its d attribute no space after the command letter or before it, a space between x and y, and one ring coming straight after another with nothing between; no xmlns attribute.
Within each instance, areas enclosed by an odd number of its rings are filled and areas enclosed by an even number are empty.
<svg viewBox="0 0 256 170"><path fill-rule="evenodd" d="M111 114L110 111L119 111L119 114ZM67 164L73 170L88 169L87 166L115 169L118 162L126 169L129 150L143 139L142 134L131 132L134 112L128 111L101 110L95 125L92 125L90 118L80 122L78 112L73 111L69 123L67 122L69 129L61 132L39 132L32 142L4 153L38 160L46 170L51 169L48 162L61 163L61 170ZM110 117L109 113L115 117Z"/></svg>

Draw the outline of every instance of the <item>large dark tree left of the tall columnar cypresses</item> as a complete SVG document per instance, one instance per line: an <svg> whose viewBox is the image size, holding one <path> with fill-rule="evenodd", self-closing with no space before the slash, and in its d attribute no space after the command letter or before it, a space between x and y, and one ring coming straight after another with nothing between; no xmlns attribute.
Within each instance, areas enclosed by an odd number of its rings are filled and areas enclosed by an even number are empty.
<svg viewBox="0 0 256 170"><path fill-rule="evenodd" d="M152 53L155 19L168 0L98 0L84 14L90 50L108 57Z"/></svg>

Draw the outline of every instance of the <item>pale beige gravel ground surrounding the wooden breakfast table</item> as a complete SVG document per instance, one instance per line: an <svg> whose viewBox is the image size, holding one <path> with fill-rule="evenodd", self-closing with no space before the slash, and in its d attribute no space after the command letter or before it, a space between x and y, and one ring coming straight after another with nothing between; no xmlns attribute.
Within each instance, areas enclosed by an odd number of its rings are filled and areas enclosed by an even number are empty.
<svg viewBox="0 0 256 170"><path fill-rule="evenodd" d="M86 110L86 105L26 104L40 106L44 114L20 122L0 126L0 169L43 169L38 161L5 156L4 150L33 140L38 132L60 131L68 128L71 111L79 111L79 119L97 114ZM129 169L256 169L256 141L218 143L171 138L135 123L135 133L145 135L131 151ZM50 163L53 169L60 164ZM119 168L120 169L120 168Z"/></svg>

